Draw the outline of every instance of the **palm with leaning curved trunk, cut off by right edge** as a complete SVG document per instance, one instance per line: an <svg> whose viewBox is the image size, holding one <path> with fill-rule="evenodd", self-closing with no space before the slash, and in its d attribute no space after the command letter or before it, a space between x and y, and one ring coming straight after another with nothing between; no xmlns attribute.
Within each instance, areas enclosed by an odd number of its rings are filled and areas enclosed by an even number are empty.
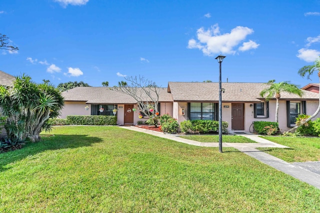
<svg viewBox="0 0 320 213"><path fill-rule="evenodd" d="M306 65L303 66L302 68L300 68L298 70L298 74L301 75L302 77L304 77L305 75L307 76L308 79L310 79L310 75L314 72L317 71L318 72L318 78L319 78L319 86L320 86L320 57L318 59L316 59L314 61L314 63L312 65ZM307 119L303 120L302 122L300 122L298 125L294 126L293 128L291 128L290 130L288 130L287 132L293 132L297 127L299 127L300 125L303 125L304 123L310 121L313 117L315 117L318 113L320 112L320 93L319 93L319 104L318 104L318 108L315 110L315 112L309 116Z"/></svg>

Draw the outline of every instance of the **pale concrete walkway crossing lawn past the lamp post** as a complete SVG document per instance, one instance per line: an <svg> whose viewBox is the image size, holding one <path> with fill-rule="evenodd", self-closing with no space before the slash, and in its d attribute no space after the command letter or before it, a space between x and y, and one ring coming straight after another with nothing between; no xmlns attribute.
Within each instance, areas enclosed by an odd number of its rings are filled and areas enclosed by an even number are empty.
<svg viewBox="0 0 320 213"><path fill-rule="evenodd" d="M218 147L217 142L198 142L194 140L184 139L181 137L177 137L172 134L164 134L162 132L147 130L143 128L138 128L135 126L119 126L121 128L134 130L134 131L140 131L147 134L152 134L154 136L158 137L164 137L167 139L175 140L178 142L183 142L190 145L196 145L196 146L207 146L207 147ZM289 174L303 182L306 182L310 185L313 185L320 189L320 162L312 162L312 164L309 163L288 163L284 160L281 160L277 157L274 157L270 154L267 154L263 151L260 151L256 149L257 147L278 147L278 148L289 148L287 146L271 142L269 140L263 139L255 134L239 134L241 136L247 137L251 140L256 141L256 143L228 143L223 142L222 147L233 147L238 149L239 151L267 164L270 165L286 174ZM223 149L222 149L223 150Z"/></svg>

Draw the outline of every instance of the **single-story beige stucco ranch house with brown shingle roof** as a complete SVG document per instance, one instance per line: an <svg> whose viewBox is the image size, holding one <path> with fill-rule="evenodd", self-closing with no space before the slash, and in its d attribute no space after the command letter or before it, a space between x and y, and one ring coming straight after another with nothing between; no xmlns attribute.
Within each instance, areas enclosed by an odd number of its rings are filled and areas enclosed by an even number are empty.
<svg viewBox="0 0 320 213"><path fill-rule="evenodd" d="M275 98L265 101L259 93L264 83L222 82L222 120L230 130L249 131L255 120L275 120ZM295 125L298 114L313 114L318 106L318 93L303 90L302 97L281 93L279 100L279 128L287 130ZM66 115L113 115L117 108L118 124L136 124L139 118L136 101L129 95L113 91L109 87L75 87L62 92ZM87 107L86 107L87 106ZM102 112L99 108L104 108ZM218 83L216 82L168 82L160 88L159 113L168 113L180 123L183 120L218 118ZM251 129L252 130L252 129Z"/></svg>

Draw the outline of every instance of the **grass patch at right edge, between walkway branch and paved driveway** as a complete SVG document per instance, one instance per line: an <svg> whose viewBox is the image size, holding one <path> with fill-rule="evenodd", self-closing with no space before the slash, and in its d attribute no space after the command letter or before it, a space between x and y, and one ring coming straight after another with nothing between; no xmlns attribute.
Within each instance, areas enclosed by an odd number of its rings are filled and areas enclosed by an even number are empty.
<svg viewBox="0 0 320 213"><path fill-rule="evenodd" d="M290 148L258 148L287 162L320 161L319 137L272 137L262 138Z"/></svg>

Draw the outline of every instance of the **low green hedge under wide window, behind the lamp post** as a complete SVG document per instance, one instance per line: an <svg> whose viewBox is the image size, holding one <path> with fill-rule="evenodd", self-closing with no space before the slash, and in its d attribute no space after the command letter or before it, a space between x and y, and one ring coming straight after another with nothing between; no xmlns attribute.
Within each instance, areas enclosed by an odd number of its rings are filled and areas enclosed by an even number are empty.
<svg viewBox="0 0 320 213"><path fill-rule="evenodd" d="M222 133L227 133L227 128L228 122L222 121ZM180 129L182 132L188 133L217 132L219 129L219 122L217 120L184 120L180 122Z"/></svg>

